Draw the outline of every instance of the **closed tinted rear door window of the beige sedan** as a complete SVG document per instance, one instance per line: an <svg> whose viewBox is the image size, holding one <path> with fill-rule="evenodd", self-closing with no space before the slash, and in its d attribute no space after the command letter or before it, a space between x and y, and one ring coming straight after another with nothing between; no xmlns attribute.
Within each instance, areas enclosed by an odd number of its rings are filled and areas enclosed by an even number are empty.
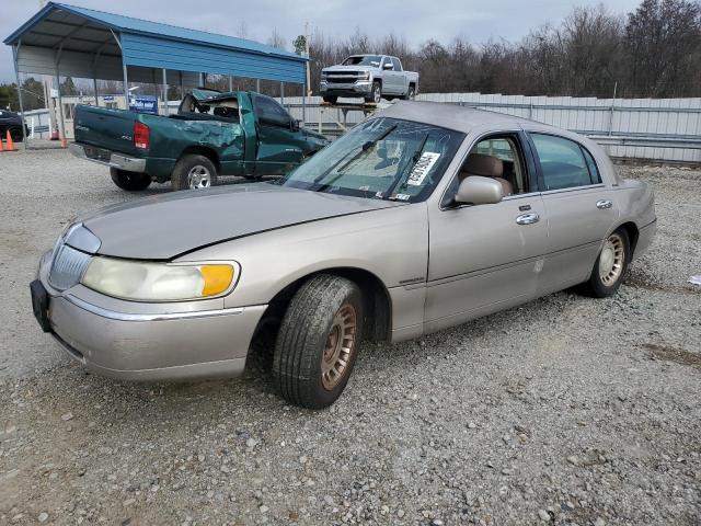
<svg viewBox="0 0 701 526"><path fill-rule="evenodd" d="M594 159L587 162L585 150L574 140L545 134L530 136L540 160L545 191L586 186L600 182L598 171L595 172L596 178L593 178L590 172L589 164L594 164L596 169Z"/></svg>

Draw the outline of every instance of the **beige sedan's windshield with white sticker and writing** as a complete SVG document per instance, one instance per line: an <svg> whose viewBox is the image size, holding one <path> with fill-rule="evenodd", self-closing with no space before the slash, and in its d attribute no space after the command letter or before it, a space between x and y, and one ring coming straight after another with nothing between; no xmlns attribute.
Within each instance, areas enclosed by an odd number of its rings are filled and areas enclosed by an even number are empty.
<svg viewBox="0 0 701 526"><path fill-rule="evenodd" d="M368 121L276 182L375 199L426 199L464 135L430 124Z"/></svg>

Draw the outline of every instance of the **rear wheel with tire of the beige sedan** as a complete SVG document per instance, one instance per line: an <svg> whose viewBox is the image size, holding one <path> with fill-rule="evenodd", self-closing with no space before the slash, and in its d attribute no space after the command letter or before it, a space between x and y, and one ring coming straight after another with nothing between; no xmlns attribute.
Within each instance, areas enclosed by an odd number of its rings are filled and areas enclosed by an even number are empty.
<svg viewBox="0 0 701 526"><path fill-rule="evenodd" d="M608 298L609 296L614 295L623 282L628 264L631 260L630 247L631 244L625 229L619 228L612 232L606 239L604 248L594 263L594 268L591 268L591 275L589 276L589 279L582 284L579 288L581 291L595 298ZM617 255L618 250L622 251L620 255ZM605 255L605 251L610 252L608 255ZM604 277L602 273L608 268L607 260L609 259L609 255L613 258L613 263L610 273L608 273L607 277ZM604 263L601 262L602 256L605 256ZM619 266L617 267L617 265Z"/></svg>

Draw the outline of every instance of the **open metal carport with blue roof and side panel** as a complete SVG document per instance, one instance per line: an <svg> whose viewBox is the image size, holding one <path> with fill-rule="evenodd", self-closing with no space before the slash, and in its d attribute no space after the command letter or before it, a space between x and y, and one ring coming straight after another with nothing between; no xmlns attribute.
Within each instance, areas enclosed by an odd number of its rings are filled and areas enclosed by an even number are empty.
<svg viewBox="0 0 701 526"><path fill-rule="evenodd" d="M264 44L49 2L4 39L20 73L198 85L202 73L304 84L307 58ZM306 88L304 88L306 91ZM20 111L22 90L20 92ZM96 93L96 89L95 89ZM62 104L59 111L64 121ZM62 128L61 128L62 129ZM25 142L26 144L26 142Z"/></svg>

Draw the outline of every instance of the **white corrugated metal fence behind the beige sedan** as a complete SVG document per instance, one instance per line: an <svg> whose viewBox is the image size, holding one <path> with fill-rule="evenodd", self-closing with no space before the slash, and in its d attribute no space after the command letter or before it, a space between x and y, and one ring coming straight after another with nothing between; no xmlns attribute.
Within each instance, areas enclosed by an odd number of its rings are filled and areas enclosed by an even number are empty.
<svg viewBox="0 0 701 526"><path fill-rule="evenodd" d="M531 118L586 135L611 157L659 161L701 162L701 99L595 99L571 96L486 95L482 93L424 93L420 101L473 106ZM353 100L348 100L350 102ZM285 98L301 118L301 98ZM342 129L341 110L324 107L321 98L308 99L307 125L326 133ZM349 111L346 123L363 119Z"/></svg>

